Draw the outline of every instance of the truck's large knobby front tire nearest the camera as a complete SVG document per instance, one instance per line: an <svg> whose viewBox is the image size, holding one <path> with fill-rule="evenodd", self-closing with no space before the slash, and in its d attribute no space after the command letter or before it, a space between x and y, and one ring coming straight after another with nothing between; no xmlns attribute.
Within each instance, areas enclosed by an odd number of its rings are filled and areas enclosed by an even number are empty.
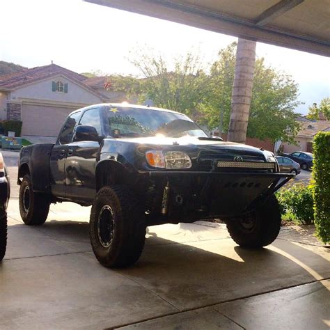
<svg viewBox="0 0 330 330"><path fill-rule="evenodd" d="M103 187L91 210L90 238L97 260L105 267L128 267L141 256L146 240L146 220L139 198L124 185ZM112 237L104 246L100 234L102 210L111 211ZM112 225L111 225L112 226Z"/></svg>

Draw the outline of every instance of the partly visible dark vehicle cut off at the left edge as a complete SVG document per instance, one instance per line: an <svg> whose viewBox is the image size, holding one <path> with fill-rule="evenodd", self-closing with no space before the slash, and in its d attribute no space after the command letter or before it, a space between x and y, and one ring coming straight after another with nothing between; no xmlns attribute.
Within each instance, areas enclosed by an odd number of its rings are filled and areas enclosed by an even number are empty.
<svg viewBox="0 0 330 330"><path fill-rule="evenodd" d="M7 205L10 195L10 183L5 163L0 152L0 261L7 246Z"/></svg>

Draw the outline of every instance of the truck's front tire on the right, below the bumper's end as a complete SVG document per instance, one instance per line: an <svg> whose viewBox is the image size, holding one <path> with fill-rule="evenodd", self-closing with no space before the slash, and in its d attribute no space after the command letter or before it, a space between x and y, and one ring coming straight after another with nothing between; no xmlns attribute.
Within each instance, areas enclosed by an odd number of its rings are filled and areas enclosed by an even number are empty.
<svg viewBox="0 0 330 330"><path fill-rule="evenodd" d="M276 197L269 196L261 207L247 217L253 224L251 228L245 228L242 225L242 220L244 223L242 218L226 221L230 237L244 248L256 249L272 244L281 228L281 212Z"/></svg>

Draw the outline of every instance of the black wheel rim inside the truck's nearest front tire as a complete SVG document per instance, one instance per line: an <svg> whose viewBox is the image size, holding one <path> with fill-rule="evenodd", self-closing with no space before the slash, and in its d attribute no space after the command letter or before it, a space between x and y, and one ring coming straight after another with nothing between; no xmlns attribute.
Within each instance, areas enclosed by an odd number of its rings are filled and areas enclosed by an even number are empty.
<svg viewBox="0 0 330 330"><path fill-rule="evenodd" d="M111 244L114 227L113 210L109 205L104 205L97 219L97 233L104 248L108 248Z"/></svg>

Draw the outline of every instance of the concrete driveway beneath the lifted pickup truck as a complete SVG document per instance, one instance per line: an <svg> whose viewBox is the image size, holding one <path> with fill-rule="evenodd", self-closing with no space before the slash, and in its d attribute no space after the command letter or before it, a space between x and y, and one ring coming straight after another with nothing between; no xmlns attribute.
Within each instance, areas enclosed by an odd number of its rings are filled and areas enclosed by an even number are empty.
<svg viewBox="0 0 330 330"><path fill-rule="evenodd" d="M91 251L89 207L52 205L28 227L14 197L8 215L1 329L329 329L329 249L312 228L247 251L222 224L153 226L139 262L112 270Z"/></svg>

